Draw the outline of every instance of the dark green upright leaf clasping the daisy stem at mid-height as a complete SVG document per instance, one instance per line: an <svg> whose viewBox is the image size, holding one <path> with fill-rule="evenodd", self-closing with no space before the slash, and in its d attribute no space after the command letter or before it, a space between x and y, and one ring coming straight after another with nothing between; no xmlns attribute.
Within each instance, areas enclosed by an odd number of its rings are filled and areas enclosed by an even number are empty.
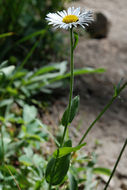
<svg viewBox="0 0 127 190"><path fill-rule="evenodd" d="M72 100L72 104L71 104L71 110L70 110L70 117L68 119L68 107L65 110L62 120L61 120L61 124L63 126L67 126L69 123L72 122L72 120L74 119L77 111L78 111L78 106L79 106L79 96L76 96L75 98L73 98Z"/></svg>

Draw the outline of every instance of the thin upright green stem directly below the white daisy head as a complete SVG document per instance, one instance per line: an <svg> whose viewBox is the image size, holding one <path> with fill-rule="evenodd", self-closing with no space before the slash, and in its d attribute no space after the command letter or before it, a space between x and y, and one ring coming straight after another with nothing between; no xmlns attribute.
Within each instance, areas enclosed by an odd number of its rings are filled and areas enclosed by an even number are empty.
<svg viewBox="0 0 127 190"><path fill-rule="evenodd" d="M73 83L74 83L74 52L73 52L73 28L70 29L70 70L71 70L71 76L70 76L70 95L69 95L69 105L68 105L68 121L70 117L70 111L71 111L71 103L72 103L72 96L73 96ZM68 123L68 122L67 122ZM61 141L61 147L63 146L64 138L66 135L68 125L64 127L63 137Z"/></svg>

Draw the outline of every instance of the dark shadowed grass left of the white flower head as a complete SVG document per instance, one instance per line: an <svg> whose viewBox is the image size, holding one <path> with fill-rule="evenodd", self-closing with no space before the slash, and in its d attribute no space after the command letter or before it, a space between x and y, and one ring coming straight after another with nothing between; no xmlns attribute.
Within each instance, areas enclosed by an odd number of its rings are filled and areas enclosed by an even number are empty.
<svg viewBox="0 0 127 190"><path fill-rule="evenodd" d="M40 60L47 63L56 58L60 59L61 34L49 29L45 17L49 12L63 9L64 3L64 0L1 0L0 61L8 59L13 64L15 59L18 59L20 64L22 57L28 54L38 39L34 56L28 64L29 68L37 65L37 60L40 66Z"/></svg>

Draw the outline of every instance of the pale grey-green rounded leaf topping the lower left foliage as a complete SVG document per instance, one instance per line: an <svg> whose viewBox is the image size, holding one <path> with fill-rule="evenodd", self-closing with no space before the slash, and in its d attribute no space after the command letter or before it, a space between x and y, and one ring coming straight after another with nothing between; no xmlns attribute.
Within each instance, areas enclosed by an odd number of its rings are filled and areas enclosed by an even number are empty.
<svg viewBox="0 0 127 190"><path fill-rule="evenodd" d="M36 119L37 116L37 109L35 106L29 106L25 104L23 108L23 119L26 123L30 123L34 119Z"/></svg>

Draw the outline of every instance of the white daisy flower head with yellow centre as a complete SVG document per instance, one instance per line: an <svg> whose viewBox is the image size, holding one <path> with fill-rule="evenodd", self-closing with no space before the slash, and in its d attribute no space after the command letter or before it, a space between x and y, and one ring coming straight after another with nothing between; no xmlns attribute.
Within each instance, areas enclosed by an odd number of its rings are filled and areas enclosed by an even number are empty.
<svg viewBox="0 0 127 190"><path fill-rule="evenodd" d="M58 11L57 13L47 14L46 20L49 24L53 25L55 28L72 28L78 25L85 28L89 23L93 21L92 11L80 11L79 8L69 7L67 11Z"/></svg>

